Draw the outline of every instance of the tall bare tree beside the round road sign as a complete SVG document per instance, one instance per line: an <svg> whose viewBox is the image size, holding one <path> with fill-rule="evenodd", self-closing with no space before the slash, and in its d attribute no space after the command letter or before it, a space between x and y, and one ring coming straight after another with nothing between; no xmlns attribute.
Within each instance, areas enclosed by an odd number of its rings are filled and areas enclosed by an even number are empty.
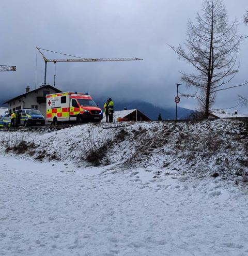
<svg viewBox="0 0 248 256"><path fill-rule="evenodd" d="M208 117L215 102L216 93L248 83L227 87L238 72L238 52L242 36L238 36L237 22L228 23L227 11L222 0L204 0L202 13L197 13L196 24L188 22L184 50L176 49L179 58L196 69L196 73L182 72L182 81L196 92L184 94L198 99L201 111Z"/></svg>

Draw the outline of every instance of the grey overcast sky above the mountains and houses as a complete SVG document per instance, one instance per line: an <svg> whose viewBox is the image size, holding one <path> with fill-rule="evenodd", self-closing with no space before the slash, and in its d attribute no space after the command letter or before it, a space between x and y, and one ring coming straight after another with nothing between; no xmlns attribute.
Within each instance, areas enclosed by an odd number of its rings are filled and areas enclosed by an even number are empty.
<svg viewBox="0 0 248 256"><path fill-rule="evenodd" d="M242 23L247 0L224 0L229 19ZM43 83L41 47L85 58L139 57L144 61L57 63L56 86L63 91L88 91L121 99L140 99L157 106L172 106L179 71L191 70L166 43L185 41L187 20L194 20L200 0L1 0L0 64L16 65L15 72L0 73L0 99L11 98ZM47 57L63 56L46 54ZM231 85L248 79L248 39L240 49L240 71ZM37 71L36 71L37 67ZM53 84L54 64L48 64L47 83ZM181 91L185 92L185 86ZM218 95L216 108L237 104L248 86ZM197 103L181 99L180 107ZM247 108L238 108L248 112Z"/></svg>

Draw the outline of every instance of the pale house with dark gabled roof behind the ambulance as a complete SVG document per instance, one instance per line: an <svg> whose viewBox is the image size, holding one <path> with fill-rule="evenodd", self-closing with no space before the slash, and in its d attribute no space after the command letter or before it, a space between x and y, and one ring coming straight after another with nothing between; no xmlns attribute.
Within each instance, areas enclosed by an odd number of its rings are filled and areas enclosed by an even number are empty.
<svg viewBox="0 0 248 256"><path fill-rule="evenodd" d="M24 94L18 95L7 100L3 104L8 104L8 113L11 114L15 110L22 108L38 109L43 116L46 115L46 98L47 94L61 93L61 91L51 85L43 85L33 91L30 87L26 87Z"/></svg>

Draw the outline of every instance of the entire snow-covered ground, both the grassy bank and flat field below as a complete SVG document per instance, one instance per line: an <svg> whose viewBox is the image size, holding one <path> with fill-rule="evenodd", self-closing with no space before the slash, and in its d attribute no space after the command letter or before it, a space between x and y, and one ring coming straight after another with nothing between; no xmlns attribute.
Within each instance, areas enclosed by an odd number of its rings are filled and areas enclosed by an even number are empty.
<svg viewBox="0 0 248 256"><path fill-rule="evenodd" d="M248 254L245 123L104 127L0 133L0 255Z"/></svg>

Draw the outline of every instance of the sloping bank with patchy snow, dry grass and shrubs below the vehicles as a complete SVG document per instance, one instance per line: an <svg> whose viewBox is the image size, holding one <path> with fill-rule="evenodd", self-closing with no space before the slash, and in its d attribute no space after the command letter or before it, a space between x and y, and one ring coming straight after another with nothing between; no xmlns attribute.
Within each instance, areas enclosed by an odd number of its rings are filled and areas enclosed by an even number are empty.
<svg viewBox="0 0 248 256"><path fill-rule="evenodd" d="M2 152L40 161L69 161L78 167L107 164L115 164L116 169L154 167L162 172L176 169L180 173L223 178L243 176L245 180L248 168L245 122L236 119L137 122L115 129L106 127L106 124L87 124L52 132L2 132ZM19 145L22 141L27 145Z"/></svg>

